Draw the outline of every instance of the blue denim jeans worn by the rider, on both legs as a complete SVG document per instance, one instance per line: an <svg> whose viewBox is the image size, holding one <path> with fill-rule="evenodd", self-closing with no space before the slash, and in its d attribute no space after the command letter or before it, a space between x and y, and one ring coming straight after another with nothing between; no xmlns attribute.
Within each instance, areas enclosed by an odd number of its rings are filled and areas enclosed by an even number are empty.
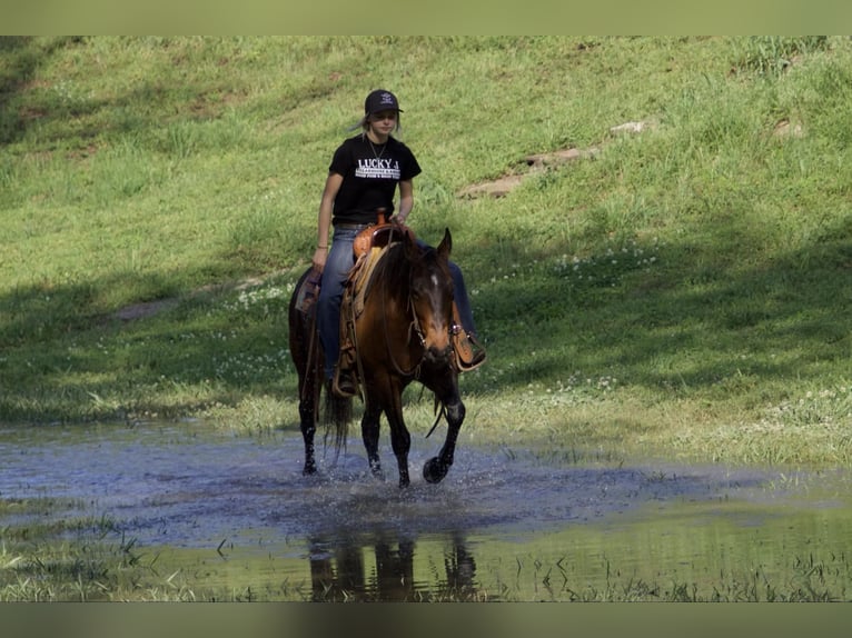
<svg viewBox="0 0 852 638"><path fill-rule="evenodd" d="M355 265L353 255L353 242L355 237L365 227L339 228L335 227L331 248L328 251L326 266L323 269L323 280L319 286L319 297L317 298L317 328L319 329L319 341L323 343L325 352L325 375L326 379L331 379L337 366L338 350L340 349L340 301L344 296L344 287L349 277L349 270ZM417 243L425 249L432 249L425 241L417 240ZM470 300L467 298L467 288L465 279L462 276L462 269L450 261L449 273L453 277L453 289L458 308L462 328L470 335L476 333L474 326L473 310Z"/></svg>

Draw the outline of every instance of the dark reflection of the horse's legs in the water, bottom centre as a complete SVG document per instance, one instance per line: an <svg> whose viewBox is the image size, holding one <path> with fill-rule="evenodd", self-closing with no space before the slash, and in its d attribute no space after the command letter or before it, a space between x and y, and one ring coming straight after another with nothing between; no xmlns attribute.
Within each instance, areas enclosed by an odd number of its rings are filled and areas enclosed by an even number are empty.
<svg viewBox="0 0 852 638"><path fill-rule="evenodd" d="M314 601L412 601L479 599L476 561L455 535L434 558L415 561L410 538L376 538L371 545L314 538L308 541Z"/></svg>

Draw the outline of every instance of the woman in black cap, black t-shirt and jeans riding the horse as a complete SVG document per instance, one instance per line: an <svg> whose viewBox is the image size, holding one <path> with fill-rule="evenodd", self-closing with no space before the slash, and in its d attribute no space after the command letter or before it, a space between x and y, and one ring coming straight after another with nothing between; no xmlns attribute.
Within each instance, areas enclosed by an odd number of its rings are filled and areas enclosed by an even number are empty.
<svg viewBox="0 0 852 638"><path fill-rule="evenodd" d="M390 216L394 196L399 189L399 208L394 220L405 223L414 206L413 180L420 173L414 153L390 133L399 129L399 103L396 96L383 89L370 92L364 102L361 132L345 140L335 151L328 167L323 198L319 202L317 223L317 249L314 267L323 273L317 299L319 339L325 351L325 375L331 380L339 350L340 300L344 286L354 263L353 241L360 230L376 223L379 209ZM328 233L334 226L334 240L328 245ZM469 337L463 340L465 369L472 369L485 359L473 335L474 322L464 279L458 267L450 262L462 327ZM476 350L474 349L476 346ZM356 392L351 370L340 370L339 392Z"/></svg>

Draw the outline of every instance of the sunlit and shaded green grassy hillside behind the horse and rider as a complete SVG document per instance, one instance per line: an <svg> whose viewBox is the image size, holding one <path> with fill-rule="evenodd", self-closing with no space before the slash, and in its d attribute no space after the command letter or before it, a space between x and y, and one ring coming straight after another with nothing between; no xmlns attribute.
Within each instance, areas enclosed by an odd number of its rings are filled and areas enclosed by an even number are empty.
<svg viewBox="0 0 852 638"><path fill-rule="evenodd" d="M286 303L377 87L488 345L466 432L849 462L846 38L2 38L0 420L293 426Z"/></svg>

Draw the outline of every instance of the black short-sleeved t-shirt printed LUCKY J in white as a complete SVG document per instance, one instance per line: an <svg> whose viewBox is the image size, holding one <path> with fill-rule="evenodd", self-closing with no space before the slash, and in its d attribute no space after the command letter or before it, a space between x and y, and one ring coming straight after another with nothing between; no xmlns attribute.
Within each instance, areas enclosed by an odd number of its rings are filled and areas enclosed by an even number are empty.
<svg viewBox="0 0 852 638"><path fill-rule="evenodd" d="M396 185L418 176L420 166L399 140L389 137L384 144L374 144L358 134L338 147L328 170L344 177L333 223L371 223L379 208L390 217Z"/></svg>

